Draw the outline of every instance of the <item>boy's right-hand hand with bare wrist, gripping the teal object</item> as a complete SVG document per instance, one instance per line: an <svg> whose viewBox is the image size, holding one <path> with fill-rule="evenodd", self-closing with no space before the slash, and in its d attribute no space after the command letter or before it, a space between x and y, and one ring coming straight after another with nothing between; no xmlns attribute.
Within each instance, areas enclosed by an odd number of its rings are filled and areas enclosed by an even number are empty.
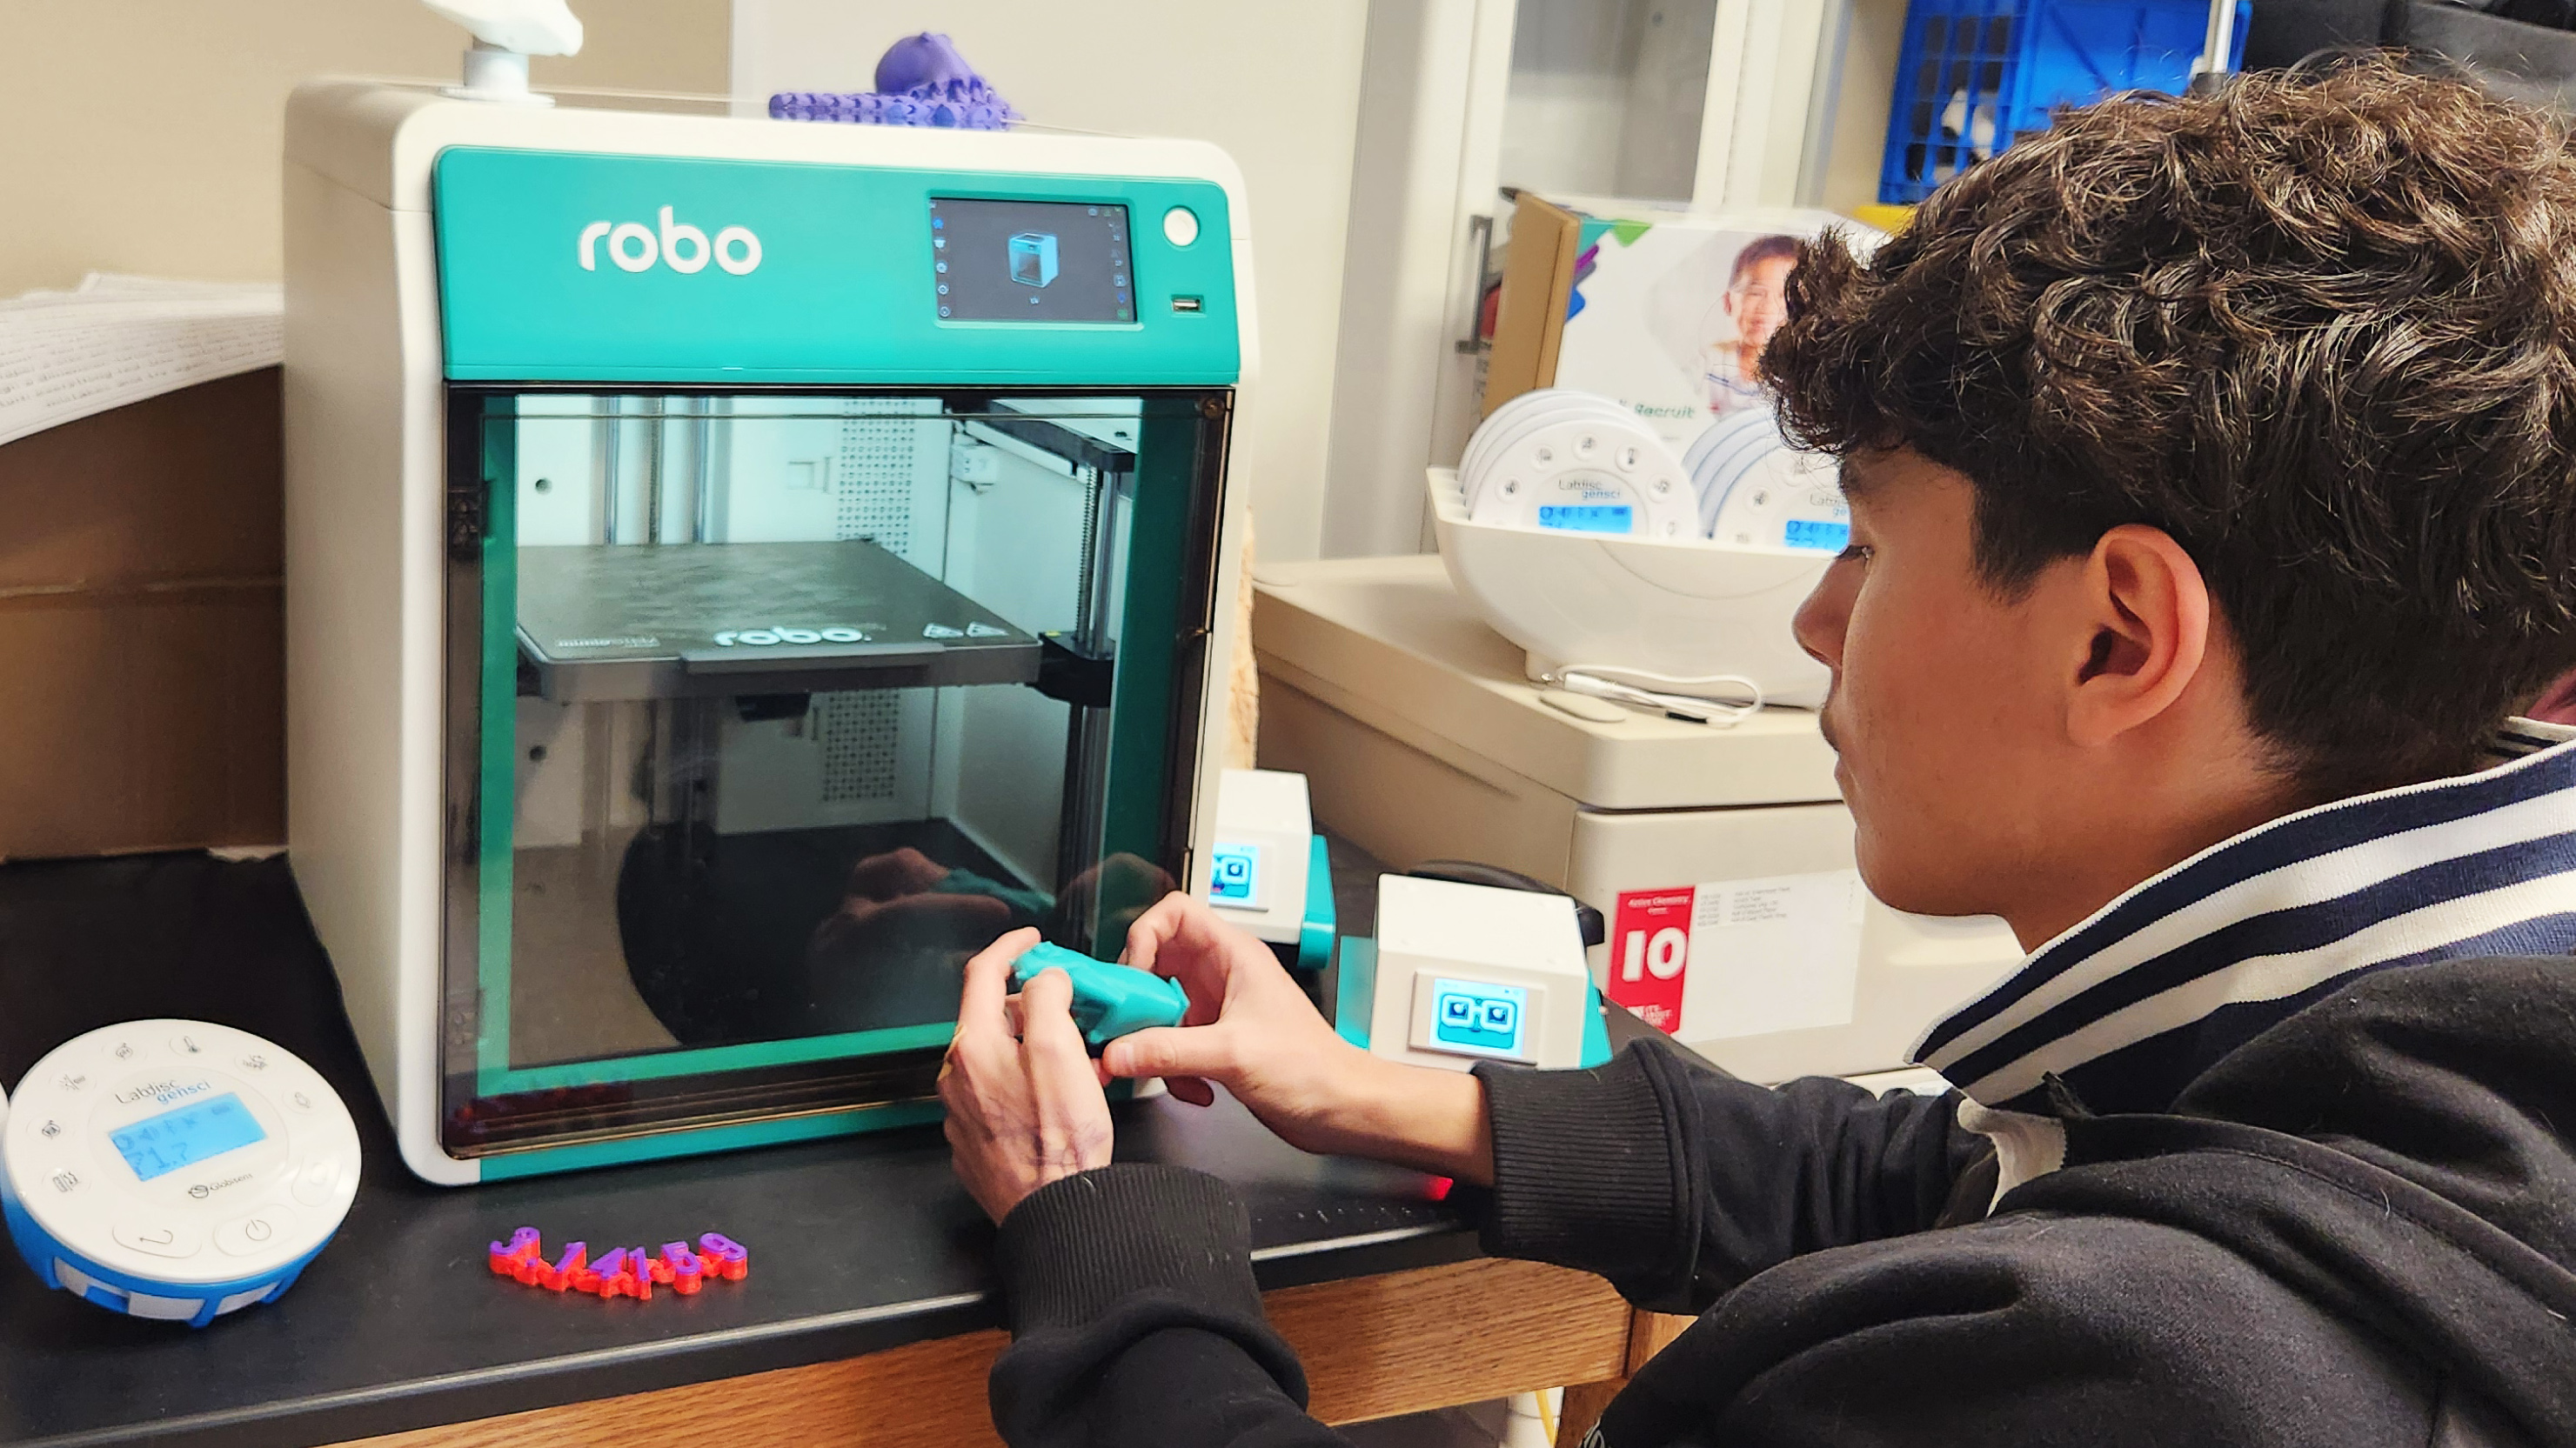
<svg viewBox="0 0 2576 1448"><path fill-rule="evenodd" d="M1128 930L1126 964L1177 979L1190 1013L1177 1028L1108 1043L1113 1077L1164 1077L1172 1095L1208 1105L1226 1087L1291 1147L1376 1157L1494 1180L1484 1082L1406 1067L1342 1041L1306 992L1252 935L1190 894L1167 894Z"/></svg>

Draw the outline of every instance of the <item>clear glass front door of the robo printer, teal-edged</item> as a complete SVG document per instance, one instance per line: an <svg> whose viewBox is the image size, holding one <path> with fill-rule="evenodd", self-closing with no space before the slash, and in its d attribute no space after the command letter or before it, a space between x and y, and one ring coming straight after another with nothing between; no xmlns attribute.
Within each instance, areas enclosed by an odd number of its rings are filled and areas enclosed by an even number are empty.
<svg viewBox="0 0 2576 1448"><path fill-rule="evenodd" d="M459 392L448 1149L920 1098L971 951L1115 953L1216 399Z"/></svg>

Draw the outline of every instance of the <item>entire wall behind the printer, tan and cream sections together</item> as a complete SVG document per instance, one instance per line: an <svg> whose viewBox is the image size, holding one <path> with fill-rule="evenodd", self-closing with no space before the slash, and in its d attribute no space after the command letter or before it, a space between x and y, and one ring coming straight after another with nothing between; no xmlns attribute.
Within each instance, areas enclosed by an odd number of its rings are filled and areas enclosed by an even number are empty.
<svg viewBox="0 0 2576 1448"><path fill-rule="evenodd" d="M1242 417L1265 557L1314 557L1365 0L572 0L536 82L858 90L922 23L1033 119L1206 137L1244 167L1262 384ZM278 139L309 75L453 77L417 0L0 0L0 296L85 271L278 276ZM742 49L737 57L734 49Z"/></svg>

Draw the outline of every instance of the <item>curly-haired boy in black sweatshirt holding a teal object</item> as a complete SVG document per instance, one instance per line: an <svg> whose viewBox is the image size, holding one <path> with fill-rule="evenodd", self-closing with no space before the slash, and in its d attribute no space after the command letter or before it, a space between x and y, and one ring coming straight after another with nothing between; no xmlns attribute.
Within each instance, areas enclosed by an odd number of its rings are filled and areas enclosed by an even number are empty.
<svg viewBox="0 0 2576 1448"><path fill-rule="evenodd" d="M1481 1185L1484 1247L1703 1314L1600 1443L2576 1440L2576 155L2360 62L2061 116L1765 358L1844 459L1798 613L1860 871L2030 951L1955 1092L1381 1062L1190 899L1128 958L1311 1152ZM2501 763L2499 763L2501 760ZM958 1175L1002 1224L1015 1445L1332 1443L1206 1175L1108 1165L1041 976L971 961Z"/></svg>

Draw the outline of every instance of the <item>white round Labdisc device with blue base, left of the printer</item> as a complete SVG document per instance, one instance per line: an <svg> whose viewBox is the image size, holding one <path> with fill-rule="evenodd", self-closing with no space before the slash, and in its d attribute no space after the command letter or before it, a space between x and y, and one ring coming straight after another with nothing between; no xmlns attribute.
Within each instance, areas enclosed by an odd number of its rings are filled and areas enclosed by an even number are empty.
<svg viewBox="0 0 2576 1448"><path fill-rule="evenodd" d="M358 1126L291 1051L204 1020L64 1041L0 1126L0 1208L46 1286L204 1327L283 1293L358 1196Z"/></svg>

